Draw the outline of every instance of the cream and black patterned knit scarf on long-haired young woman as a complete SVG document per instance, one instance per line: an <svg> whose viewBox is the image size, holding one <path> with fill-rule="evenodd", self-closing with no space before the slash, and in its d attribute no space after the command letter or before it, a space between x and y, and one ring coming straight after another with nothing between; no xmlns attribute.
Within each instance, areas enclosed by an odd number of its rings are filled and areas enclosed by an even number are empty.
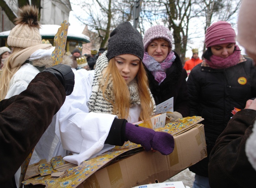
<svg viewBox="0 0 256 188"><path fill-rule="evenodd" d="M102 74L109 63L106 57L106 53L107 51L98 57L94 78L93 78L92 94L88 101L88 106L89 106L90 112L113 114L112 104L103 98L101 87L99 87L100 84L102 84L102 86L106 84L106 83L100 83L100 81L102 80ZM135 104L141 104L136 81L131 82L127 87L130 93L130 107L133 107ZM111 99L114 101L114 94L112 91L113 91L113 84L110 78L109 82L107 83L107 88L106 88L107 96L105 95L105 98ZM153 98L152 95L151 95L151 98ZM154 103L154 100L153 100L153 103Z"/></svg>

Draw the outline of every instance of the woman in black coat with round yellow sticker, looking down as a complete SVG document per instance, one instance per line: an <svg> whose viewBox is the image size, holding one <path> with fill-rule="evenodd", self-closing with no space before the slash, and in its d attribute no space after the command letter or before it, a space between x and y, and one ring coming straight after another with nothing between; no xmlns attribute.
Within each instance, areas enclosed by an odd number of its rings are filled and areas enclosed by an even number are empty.
<svg viewBox="0 0 256 188"><path fill-rule="evenodd" d="M188 77L191 116L204 118L208 157L191 166L193 187L210 187L208 163L216 139L233 116L234 107L243 109L256 96L256 72L253 61L241 55L236 33L228 22L218 21L206 30L204 60ZM218 172L215 172L218 173Z"/></svg>

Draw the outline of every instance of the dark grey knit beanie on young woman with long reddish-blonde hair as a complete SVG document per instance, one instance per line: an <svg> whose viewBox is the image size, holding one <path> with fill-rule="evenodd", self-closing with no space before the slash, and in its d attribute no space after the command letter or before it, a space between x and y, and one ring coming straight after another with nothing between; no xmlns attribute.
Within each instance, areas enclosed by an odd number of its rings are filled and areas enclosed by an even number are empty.
<svg viewBox="0 0 256 188"><path fill-rule="evenodd" d="M107 46L107 59L121 55L133 54L141 60L144 56L142 36L130 22L120 23L111 33Z"/></svg>

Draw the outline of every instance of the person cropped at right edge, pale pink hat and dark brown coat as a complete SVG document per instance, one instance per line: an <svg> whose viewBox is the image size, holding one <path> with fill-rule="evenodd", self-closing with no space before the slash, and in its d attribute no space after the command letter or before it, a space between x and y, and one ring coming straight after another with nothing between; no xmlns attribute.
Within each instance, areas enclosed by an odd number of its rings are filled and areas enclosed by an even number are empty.
<svg viewBox="0 0 256 188"><path fill-rule="evenodd" d="M237 41L254 62L256 62L255 7L256 1L243 0L237 21ZM256 185L256 99L248 100L245 108L237 112L228 122L211 151L208 168L211 187Z"/></svg>

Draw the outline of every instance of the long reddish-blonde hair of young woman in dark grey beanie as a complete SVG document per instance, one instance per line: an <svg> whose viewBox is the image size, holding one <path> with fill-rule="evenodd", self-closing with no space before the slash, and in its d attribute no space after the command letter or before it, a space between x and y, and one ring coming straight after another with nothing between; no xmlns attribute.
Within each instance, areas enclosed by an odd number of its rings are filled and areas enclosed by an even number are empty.
<svg viewBox="0 0 256 188"><path fill-rule="evenodd" d="M118 118L127 119L130 108L130 93L125 80L117 69L114 58L109 60L109 64L103 73L102 79L105 83L109 82L110 74L113 81L114 100L107 97L107 84L104 84L103 87L100 84L100 87L102 87L103 98L112 104L113 112L114 114L118 114ZM154 104L150 95L147 74L142 61L139 63L139 71L135 79L138 85L139 98L141 101L139 120L143 120L152 126L150 116L153 114Z"/></svg>

